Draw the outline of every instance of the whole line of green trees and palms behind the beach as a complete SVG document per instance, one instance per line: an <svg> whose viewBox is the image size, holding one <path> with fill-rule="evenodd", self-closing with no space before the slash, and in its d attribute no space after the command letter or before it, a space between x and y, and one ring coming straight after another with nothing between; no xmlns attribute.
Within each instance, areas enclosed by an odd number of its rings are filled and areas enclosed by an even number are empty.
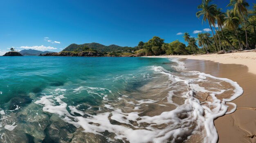
<svg viewBox="0 0 256 143"><path fill-rule="evenodd" d="M229 9L223 12L212 0L202 0L196 16L202 23L208 23L210 33L198 33L191 37L184 33L188 46L176 40L164 43L164 39L154 36L148 42L139 42L140 55L188 55L216 53L218 51L243 50L256 46L256 4L249 9L246 0L230 0Z"/></svg>

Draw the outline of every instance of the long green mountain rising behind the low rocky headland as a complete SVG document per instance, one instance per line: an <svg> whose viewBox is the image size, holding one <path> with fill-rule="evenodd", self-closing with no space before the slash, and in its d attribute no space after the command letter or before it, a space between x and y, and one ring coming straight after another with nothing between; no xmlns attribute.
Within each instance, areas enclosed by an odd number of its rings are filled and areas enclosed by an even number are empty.
<svg viewBox="0 0 256 143"><path fill-rule="evenodd" d="M80 48L83 46L87 46L88 48L92 48L94 50L97 50L99 52L112 52L112 51L118 51L118 50L128 50L132 49L131 47L122 47L117 45L109 45L105 46L99 43L85 43L85 44L71 44L70 46L67 46L62 51L74 51L76 48Z"/></svg>

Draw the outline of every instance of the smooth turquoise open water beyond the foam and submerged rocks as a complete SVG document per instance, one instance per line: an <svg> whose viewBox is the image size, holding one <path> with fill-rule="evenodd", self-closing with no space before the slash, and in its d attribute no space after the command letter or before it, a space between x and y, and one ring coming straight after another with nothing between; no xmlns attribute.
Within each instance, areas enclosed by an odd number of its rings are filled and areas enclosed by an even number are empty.
<svg viewBox="0 0 256 143"><path fill-rule="evenodd" d="M43 90L59 86L101 87L115 92L130 90L132 86L136 88L144 84L141 76L153 72L149 66L160 66L164 62L170 63L168 59L159 58L0 57L0 103L2 105L13 97L27 96L29 93L40 96ZM115 80L120 76L127 79L134 76L136 83ZM84 93L79 95L89 96Z"/></svg>

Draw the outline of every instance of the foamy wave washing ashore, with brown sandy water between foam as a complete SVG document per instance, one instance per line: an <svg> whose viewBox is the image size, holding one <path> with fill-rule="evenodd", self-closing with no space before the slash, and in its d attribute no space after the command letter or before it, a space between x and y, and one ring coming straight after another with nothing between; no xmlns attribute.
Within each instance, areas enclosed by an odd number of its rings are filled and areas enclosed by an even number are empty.
<svg viewBox="0 0 256 143"><path fill-rule="evenodd" d="M174 143L202 139L205 143L216 143L218 134L213 120L236 110L236 105L230 103L234 107L227 112L226 103L242 95L243 89L230 79L197 71L184 72L183 62L171 61L177 63L173 68L178 72L162 66L150 67L155 74L168 77L168 80L141 87L147 88L146 93L151 92L144 99L136 100L128 92L126 95L119 93L113 100L110 96L116 93L107 88L80 86L68 92L86 91L92 97L101 97L103 103L98 111L91 111L92 106L85 109L83 103L75 106L65 103L66 89L56 89L52 95L43 96L35 103L42 105L44 112L57 114L63 121L83 128L83 132L104 136L108 141ZM159 95L159 90L167 92ZM155 110L159 112L147 113ZM106 135L106 131L111 134Z"/></svg>

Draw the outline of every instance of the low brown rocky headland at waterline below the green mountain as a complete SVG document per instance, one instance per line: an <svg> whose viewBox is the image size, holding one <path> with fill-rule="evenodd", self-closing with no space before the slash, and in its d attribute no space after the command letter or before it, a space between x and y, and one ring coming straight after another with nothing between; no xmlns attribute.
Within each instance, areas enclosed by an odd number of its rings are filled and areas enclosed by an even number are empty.
<svg viewBox="0 0 256 143"><path fill-rule="evenodd" d="M93 51L46 53L40 56L102 57L103 53Z"/></svg>

